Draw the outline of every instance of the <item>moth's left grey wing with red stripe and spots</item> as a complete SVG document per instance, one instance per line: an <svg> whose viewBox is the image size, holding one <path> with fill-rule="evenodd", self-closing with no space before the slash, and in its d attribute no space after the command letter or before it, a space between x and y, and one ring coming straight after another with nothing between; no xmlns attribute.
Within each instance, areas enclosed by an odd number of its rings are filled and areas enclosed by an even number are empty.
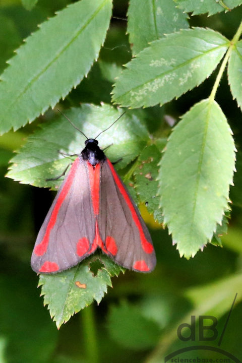
<svg viewBox="0 0 242 363"><path fill-rule="evenodd" d="M31 257L32 269L53 273L75 266L89 255L94 236L88 170L79 156L40 228Z"/></svg>

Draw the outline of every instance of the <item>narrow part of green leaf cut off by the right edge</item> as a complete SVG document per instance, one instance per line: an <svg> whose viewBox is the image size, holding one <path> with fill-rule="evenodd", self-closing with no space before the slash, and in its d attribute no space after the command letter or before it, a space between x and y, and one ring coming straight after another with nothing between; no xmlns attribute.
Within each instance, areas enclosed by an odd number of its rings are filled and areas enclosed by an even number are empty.
<svg viewBox="0 0 242 363"><path fill-rule="evenodd" d="M242 109L242 40L237 42L228 61L228 82L231 93L236 98L238 106Z"/></svg>

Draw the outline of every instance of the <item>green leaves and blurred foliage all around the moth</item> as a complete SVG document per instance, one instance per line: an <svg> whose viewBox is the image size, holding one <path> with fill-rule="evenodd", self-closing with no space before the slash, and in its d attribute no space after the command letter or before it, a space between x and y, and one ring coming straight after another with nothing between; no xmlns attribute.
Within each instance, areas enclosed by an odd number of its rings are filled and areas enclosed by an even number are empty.
<svg viewBox="0 0 242 363"><path fill-rule="evenodd" d="M2 175L11 162L0 181L3 363L159 362L182 346L176 329L191 315L216 316L222 331L235 292L241 314L241 4L1 3ZM57 328L80 312L59 333L28 267L52 200L43 188L61 183L46 179L73 160L59 151L80 153L85 141L57 109L88 137L126 111L98 141L142 205L157 255L152 274L125 272L96 253L40 275ZM226 344L241 355L236 337Z"/></svg>

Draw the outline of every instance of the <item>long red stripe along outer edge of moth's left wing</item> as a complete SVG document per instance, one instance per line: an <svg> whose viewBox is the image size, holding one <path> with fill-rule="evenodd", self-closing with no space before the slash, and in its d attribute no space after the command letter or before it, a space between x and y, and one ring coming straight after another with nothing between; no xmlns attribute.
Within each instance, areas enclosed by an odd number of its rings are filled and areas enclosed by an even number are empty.
<svg viewBox="0 0 242 363"><path fill-rule="evenodd" d="M52 214L51 214L50 219L49 219L49 223L48 223L47 228L46 228L45 235L44 235L42 241L40 242L40 244L37 245L35 247L35 249L34 249L34 253L37 256L43 256L45 254L46 250L47 250L48 243L49 243L49 235L50 235L51 229L55 225L56 218L57 218L57 215L58 215L58 212L59 212L59 208L61 208L62 203L64 202L64 200L65 200L65 198L66 198L66 196L67 196L67 194L68 194L68 192L69 192L69 190L71 188L71 185L72 185L72 182L73 182L73 179L74 179L78 164L79 164L79 158L76 158L76 160L74 161L74 163L73 163L73 165L72 165L72 167L70 169L70 172L69 172L69 174L67 176L65 185L64 185L61 193L59 194L57 202L56 202L56 204L54 206L54 209L53 209Z"/></svg>

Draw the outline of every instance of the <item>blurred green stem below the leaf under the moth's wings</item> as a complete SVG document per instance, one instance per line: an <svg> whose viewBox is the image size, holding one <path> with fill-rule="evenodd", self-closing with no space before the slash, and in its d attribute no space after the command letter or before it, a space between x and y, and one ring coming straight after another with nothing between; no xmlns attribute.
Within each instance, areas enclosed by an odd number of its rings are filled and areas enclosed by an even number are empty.
<svg viewBox="0 0 242 363"><path fill-rule="evenodd" d="M98 363L97 336L93 305L82 311L83 341L88 363Z"/></svg>

